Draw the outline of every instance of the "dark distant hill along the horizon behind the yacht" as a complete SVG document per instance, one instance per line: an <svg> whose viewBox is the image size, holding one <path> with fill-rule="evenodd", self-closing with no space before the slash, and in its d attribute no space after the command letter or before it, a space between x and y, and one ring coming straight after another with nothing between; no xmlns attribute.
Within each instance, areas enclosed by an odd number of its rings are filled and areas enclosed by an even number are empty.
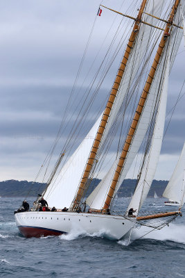
<svg viewBox="0 0 185 278"><path fill-rule="evenodd" d="M91 185L89 186L86 195L89 195L96 185L100 182L100 179L93 179ZM164 192L168 181L156 181L152 182L148 196L154 197L155 192L160 197ZM0 182L0 196L1 197L25 197L27 196L37 196L38 193L42 193L45 189L45 183L37 183L33 181L15 181L11 179L10 181ZM125 179L123 181L121 188L119 190L119 197L131 197L134 193L134 188L136 186L136 179Z"/></svg>

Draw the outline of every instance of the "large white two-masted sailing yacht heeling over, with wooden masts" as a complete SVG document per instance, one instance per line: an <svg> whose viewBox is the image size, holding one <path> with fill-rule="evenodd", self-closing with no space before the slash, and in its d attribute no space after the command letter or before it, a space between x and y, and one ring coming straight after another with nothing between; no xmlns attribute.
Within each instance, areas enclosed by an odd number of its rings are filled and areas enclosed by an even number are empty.
<svg viewBox="0 0 185 278"><path fill-rule="evenodd" d="M168 2L142 0L134 17L100 5L100 10L116 13L132 23L122 60L105 109L94 126L59 170L67 152L62 150L46 189L33 208L15 213L17 227L24 236L57 236L75 229L87 234L101 232L118 240L129 235L136 225L161 229L181 214L180 210L140 213L159 161L168 76L183 37L185 3L173 0L170 6ZM108 152L110 136L128 112L130 118L123 122L127 132L118 142L118 153L106 173L104 170L103 179L87 195L87 188L91 187L94 174L100 172L100 163ZM114 211L116 194L141 148L143 160L130 204L124 212ZM56 210L43 211L41 197ZM64 207L68 210L62 211Z"/></svg>

